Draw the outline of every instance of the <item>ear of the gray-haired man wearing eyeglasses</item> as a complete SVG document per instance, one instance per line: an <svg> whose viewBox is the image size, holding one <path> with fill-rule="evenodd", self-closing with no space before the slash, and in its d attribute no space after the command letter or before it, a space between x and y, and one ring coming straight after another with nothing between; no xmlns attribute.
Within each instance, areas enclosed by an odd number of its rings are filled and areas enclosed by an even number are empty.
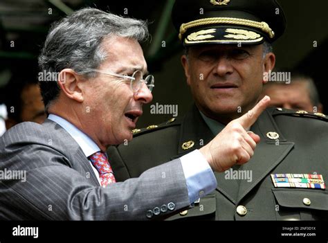
<svg viewBox="0 0 328 243"><path fill-rule="evenodd" d="M63 69L58 76L58 85L63 93L70 99L83 102L83 92L80 89L82 79L72 69Z"/></svg>

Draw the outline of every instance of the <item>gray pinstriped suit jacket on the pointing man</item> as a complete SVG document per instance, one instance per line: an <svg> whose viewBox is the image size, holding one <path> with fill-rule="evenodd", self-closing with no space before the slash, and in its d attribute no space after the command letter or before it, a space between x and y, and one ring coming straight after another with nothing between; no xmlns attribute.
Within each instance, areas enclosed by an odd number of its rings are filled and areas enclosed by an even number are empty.
<svg viewBox="0 0 328 243"><path fill-rule="evenodd" d="M102 188L78 143L51 120L6 132L0 138L0 170L26 171L26 182L0 181L0 219L143 220L147 210L163 204L173 203L172 210L152 219L190 205L179 160Z"/></svg>

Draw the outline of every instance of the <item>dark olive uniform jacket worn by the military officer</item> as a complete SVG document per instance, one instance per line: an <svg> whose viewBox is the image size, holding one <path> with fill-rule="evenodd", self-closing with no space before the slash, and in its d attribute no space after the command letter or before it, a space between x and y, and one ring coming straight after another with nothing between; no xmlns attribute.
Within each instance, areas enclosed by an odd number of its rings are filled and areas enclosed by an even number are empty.
<svg viewBox="0 0 328 243"><path fill-rule="evenodd" d="M233 172L252 172L252 180L231 179L215 173L217 190L199 204L171 219L328 219L328 192L309 188L275 188L271 174L322 174L328 182L327 118L285 109L266 109L251 130L261 137L248 163L234 166ZM280 135L278 141L266 136ZM196 107L181 119L170 120L154 129L142 129L129 145L110 147L116 179L138 177L143 171L176 159L206 145L214 135ZM182 145L194 141L183 150ZM310 199L305 205L303 199ZM239 215L244 206L246 215ZM240 207L239 207L240 210ZM183 215L183 216L182 216Z"/></svg>

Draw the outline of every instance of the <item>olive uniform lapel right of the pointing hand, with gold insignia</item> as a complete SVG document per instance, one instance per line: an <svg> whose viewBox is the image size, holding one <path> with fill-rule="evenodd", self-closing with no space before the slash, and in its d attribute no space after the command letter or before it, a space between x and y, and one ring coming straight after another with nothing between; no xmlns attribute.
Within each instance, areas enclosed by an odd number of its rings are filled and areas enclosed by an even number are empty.
<svg viewBox="0 0 328 243"><path fill-rule="evenodd" d="M239 168L242 172L252 172L252 180L240 180L237 197L238 202L267 177L282 162L284 157L289 154L294 146L293 142L286 141L283 134L277 128L271 114L269 114L268 109L261 114L253 127L251 127L251 130L261 137L261 141L255 149L253 158ZM279 134L279 140L268 138L266 136L268 132Z"/></svg>

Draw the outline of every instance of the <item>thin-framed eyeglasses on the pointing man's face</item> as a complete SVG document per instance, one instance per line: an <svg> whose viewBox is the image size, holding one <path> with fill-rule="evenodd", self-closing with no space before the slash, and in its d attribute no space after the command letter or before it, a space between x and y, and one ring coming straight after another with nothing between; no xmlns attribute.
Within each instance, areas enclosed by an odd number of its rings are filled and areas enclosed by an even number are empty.
<svg viewBox="0 0 328 243"><path fill-rule="evenodd" d="M134 92L139 91L139 89L141 89L141 87L143 86L143 83L145 83L147 85L147 88L149 89L150 92L152 92L152 90L155 87L154 76L147 75L147 77L145 79L143 79L143 73L140 70L135 71L134 74L132 74L132 76L121 75L118 73L113 73L111 71L102 71L99 69L88 69L87 71L103 73L103 74L111 75L111 76L118 77L118 78L124 78L125 80L130 80L130 86L131 86L132 91L134 91Z"/></svg>

